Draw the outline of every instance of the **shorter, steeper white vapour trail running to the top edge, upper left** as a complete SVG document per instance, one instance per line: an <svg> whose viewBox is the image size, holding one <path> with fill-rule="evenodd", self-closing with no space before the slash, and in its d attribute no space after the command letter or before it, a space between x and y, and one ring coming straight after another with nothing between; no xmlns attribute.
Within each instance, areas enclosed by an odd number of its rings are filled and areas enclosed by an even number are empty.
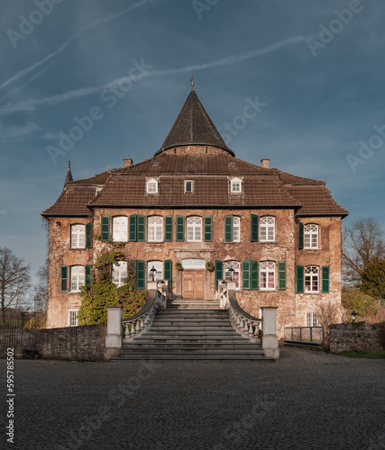
<svg viewBox="0 0 385 450"><path fill-rule="evenodd" d="M132 4L131 6L129 6L128 8L125 8L124 10L120 11L119 13L116 14L109 14L106 17L101 17L100 19L97 19L97 21L95 21L94 23L90 23L89 25L81 28L80 30L78 30L73 36L71 36L68 40L66 40L65 42L63 42L59 49L56 49L55 51L53 51L52 53L50 53L50 55L46 56L45 58L42 58L40 61L35 62L34 64L32 64L32 66L30 67L26 67L23 68L23 70L20 70L19 72L17 72L16 74L14 74L14 76L11 76L10 78L8 78L7 80L5 80L5 82L3 82L0 85L0 90L4 89L5 87L7 87L8 85L11 85L12 83L15 83L16 81L19 81L21 78L23 78L23 76L28 75L29 73L31 73L33 70L35 70L38 67L41 67L42 65L44 65L46 62L50 61L50 59L55 58L56 56L60 55L60 53L62 51L64 51L65 49L67 49L69 47L69 44L73 41L78 39L78 36L82 33L84 33L85 31L91 30L92 28L95 28L97 25L99 25L100 23L108 23L111 22L115 19L119 19L120 17L123 17L126 14L130 14L132 13L135 9L138 9L142 6L145 6L147 4L154 4L154 3L158 3L155 0L141 0L140 2L137 2L135 4Z"/></svg>

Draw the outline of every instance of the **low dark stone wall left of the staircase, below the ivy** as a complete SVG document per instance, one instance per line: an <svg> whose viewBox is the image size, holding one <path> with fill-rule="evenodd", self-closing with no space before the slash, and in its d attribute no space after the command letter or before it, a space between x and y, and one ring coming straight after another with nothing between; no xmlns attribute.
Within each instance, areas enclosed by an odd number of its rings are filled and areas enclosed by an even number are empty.
<svg viewBox="0 0 385 450"><path fill-rule="evenodd" d="M36 350L44 359L105 360L105 325L39 329Z"/></svg>

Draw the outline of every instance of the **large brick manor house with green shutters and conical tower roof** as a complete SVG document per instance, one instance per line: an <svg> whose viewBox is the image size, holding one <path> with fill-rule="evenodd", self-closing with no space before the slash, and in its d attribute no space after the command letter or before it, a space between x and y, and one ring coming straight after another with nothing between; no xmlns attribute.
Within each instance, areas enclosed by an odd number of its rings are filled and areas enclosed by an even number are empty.
<svg viewBox="0 0 385 450"><path fill-rule="evenodd" d="M266 155L261 155L265 157ZM113 267L136 287L164 280L173 298L215 299L236 282L244 311L276 306L278 331L315 326L322 304L341 305L341 221L324 181L238 159L192 89L153 157L73 181L42 212L49 221L48 326L78 324L82 285L96 257L122 242Z"/></svg>

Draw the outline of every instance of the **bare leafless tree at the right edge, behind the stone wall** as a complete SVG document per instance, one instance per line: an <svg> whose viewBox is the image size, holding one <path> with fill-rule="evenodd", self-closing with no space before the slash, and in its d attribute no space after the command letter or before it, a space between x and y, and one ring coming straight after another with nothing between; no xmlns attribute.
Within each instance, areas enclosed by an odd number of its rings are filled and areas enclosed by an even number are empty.
<svg viewBox="0 0 385 450"><path fill-rule="evenodd" d="M385 243L380 223L360 219L343 231L343 264L345 284L357 286L363 271L375 258L385 257Z"/></svg>

